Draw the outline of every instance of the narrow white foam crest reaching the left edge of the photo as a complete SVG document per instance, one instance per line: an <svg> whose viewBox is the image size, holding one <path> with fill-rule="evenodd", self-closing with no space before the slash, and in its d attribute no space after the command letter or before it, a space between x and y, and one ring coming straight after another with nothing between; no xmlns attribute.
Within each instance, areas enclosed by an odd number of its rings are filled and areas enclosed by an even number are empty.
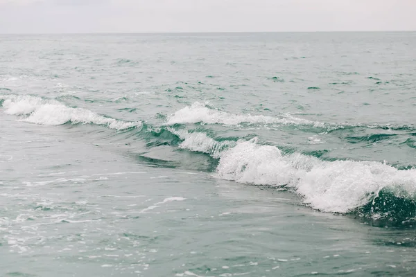
<svg viewBox="0 0 416 277"><path fill-rule="evenodd" d="M4 113L26 116L23 121L42 125L96 124L110 129L128 129L140 127L142 123L125 122L107 118L88 109L72 108L56 100L47 100L37 96L19 96L15 94L0 95L3 100Z"/></svg>

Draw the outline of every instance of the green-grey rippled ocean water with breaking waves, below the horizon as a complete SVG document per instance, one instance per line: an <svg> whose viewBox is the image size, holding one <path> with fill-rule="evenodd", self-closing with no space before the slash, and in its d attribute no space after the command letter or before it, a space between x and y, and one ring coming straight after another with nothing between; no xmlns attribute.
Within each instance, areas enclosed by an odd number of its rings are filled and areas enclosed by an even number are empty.
<svg viewBox="0 0 416 277"><path fill-rule="evenodd" d="M0 275L415 276L415 49L0 36Z"/></svg>

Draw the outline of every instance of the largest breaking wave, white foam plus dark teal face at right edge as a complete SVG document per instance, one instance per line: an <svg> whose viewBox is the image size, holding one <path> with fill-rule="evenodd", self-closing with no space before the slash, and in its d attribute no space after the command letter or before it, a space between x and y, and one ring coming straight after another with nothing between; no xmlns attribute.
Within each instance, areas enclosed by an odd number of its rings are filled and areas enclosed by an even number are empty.
<svg viewBox="0 0 416 277"><path fill-rule="evenodd" d="M306 205L324 212L399 222L416 215L408 208L416 206L413 168L398 170L377 161L323 161L297 152L284 154L257 138L217 141L203 132L167 129L179 137L180 148L219 159L216 172L221 179L293 190Z"/></svg>

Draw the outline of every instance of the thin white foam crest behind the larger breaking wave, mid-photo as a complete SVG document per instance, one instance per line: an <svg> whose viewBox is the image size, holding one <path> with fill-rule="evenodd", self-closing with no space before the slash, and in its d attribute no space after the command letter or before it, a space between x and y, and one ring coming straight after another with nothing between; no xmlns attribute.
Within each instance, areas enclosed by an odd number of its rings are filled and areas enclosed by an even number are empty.
<svg viewBox="0 0 416 277"><path fill-rule="evenodd" d="M262 124L295 124L295 125L313 125L315 127L324 127L324 123L296 118L294 116L281 116L280 118L272 116L252 116L250 114L229 114L217 109L209 109L200 102L194 102L191 106L184 107L168 116L168 125L176 123L207 123L207 124L224 124L239 125L241 123L262 123Z"/></svg>

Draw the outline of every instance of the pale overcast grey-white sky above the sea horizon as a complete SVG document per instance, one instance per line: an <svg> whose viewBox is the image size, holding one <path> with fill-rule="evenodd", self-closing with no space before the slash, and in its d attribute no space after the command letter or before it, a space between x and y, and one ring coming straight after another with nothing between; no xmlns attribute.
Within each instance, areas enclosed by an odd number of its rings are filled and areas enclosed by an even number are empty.
<svg viewBox="0 0 416 277"><path fill-rule="evenodd" d="M0 33L416 30L416 0L0 0Z"/></svg>

